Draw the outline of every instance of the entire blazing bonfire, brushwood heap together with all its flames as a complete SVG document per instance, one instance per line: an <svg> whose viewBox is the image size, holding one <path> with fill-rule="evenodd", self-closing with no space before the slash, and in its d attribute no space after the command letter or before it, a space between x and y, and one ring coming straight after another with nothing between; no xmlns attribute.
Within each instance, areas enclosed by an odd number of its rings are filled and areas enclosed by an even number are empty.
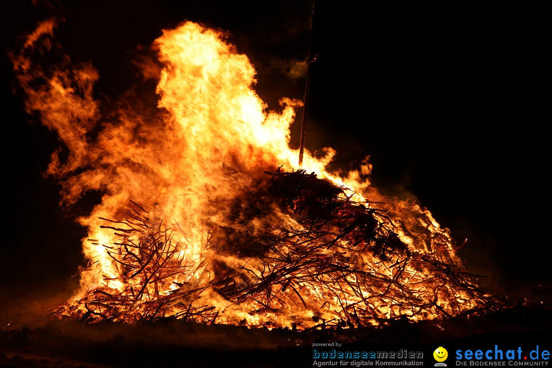
<svg viewBox="0 0 552 368"><path fill-rule="evenodd" d="M448 231L416 204L381 196L367 161L330 173L333 150L305 151L294 170L289 125L300 102L284 98L280 113L267 111L253 66L220 32L191 22L163 31L154 45L162 67L144 71L157 76L158 109L126 96L106 118L91 65L33 62L59 52L54 29L41 23L12 55L14 68L28 112L67 147L47 171L63 200L103 194L79 218L89 266L56 316L304 329L492 306Z"/></svg>

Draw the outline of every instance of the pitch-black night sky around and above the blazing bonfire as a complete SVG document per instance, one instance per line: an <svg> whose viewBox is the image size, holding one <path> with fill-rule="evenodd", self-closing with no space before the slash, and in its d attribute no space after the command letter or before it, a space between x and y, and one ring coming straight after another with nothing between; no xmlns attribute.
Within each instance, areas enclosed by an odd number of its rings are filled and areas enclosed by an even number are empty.
<svg viewBox="0 0 552 368"><path fill-rule="evenodd" d="M311 4L4 2L0 302L70 290L86 235L74 222L83 210L61 209L56 182L42 175L59 143L24 111L7 56L22 34L51 15L65 18L56 40L73 61L99 70L102 100L140 80L131 63L137 45L184 19L202 22L230 32L257 69L258 94L276 109L281 97L303 97L304 77L288 78L278 65L307 57ZM552 261L543 18L543 9L524 6L317 2L306 138L309 149L336 148L336 167L369 154L384 194L416 196L458 243L468 238L459 254L487 276L482 283L532 301L549 294Z"/></svg>

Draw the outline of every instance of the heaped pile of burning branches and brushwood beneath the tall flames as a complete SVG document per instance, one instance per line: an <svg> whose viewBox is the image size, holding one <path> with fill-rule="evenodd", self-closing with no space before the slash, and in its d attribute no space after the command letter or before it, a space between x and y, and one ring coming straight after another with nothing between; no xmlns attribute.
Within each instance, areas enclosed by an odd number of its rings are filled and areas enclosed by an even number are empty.
<svg viewBox="0 0 552 368"><path fill-rule="evenodd" d="M311 329L498 308L427 211L355 201L304 170L267 174L231 200L223 225L204 224L195 258L177 223L151 220L135 202L126 219L104 219L119 239L103 246L123 290L105 280L52 316Z"/></svg>

